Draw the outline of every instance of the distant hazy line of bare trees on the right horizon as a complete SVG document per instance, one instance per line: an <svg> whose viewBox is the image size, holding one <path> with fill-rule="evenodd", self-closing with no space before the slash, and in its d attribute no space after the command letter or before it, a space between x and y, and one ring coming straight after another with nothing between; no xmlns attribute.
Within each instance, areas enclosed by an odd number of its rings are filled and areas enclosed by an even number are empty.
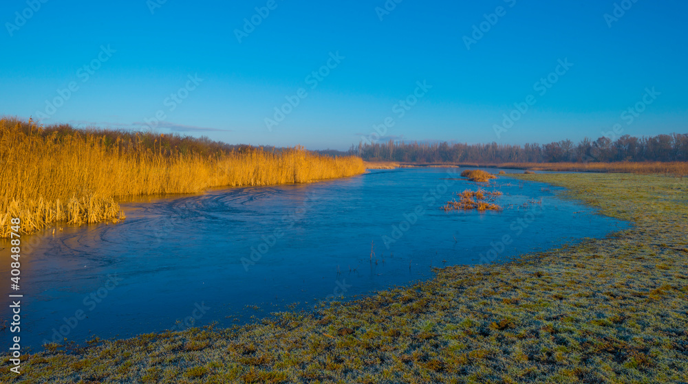
<svg viewBox="0 0 688 384"><path fill-rule="evenodd" d="M550 144L449 144L393 142L358 144L350 154L367 161L412 163L556 163L561 161L688 161L688 133L632 137L612 141L587 137L578 144L561 140Z"/></svg>

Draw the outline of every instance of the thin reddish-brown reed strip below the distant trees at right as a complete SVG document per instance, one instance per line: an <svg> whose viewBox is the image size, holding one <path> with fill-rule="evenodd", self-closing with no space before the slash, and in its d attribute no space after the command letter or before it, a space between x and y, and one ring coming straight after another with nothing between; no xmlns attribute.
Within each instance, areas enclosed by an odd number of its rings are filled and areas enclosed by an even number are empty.
<svg viewBox="0 0 688 384"><path fill-rule="evenodd" d="M614 163L500 163L497 168L574 172L621 172L688 176L688 161L618 161Z"/></svg>

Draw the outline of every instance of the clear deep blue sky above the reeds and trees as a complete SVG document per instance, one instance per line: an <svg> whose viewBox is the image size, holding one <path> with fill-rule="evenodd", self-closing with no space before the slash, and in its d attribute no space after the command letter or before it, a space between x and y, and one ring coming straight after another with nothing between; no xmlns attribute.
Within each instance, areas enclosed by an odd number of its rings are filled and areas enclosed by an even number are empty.
<svg viewBox="0 0 688 384"><path fill-rule="evenodd" d="M43 1L0 5L2 115L310 149L688 132L685 2Z"/></svg>

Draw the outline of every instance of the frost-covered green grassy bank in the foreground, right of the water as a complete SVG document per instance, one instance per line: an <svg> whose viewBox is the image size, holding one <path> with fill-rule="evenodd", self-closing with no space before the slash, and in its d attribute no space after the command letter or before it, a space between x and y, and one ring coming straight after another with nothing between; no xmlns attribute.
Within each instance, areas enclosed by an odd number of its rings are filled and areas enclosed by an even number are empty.
<svg viewBox="0 0 688 384"><path fill-rule="evenodd" d="M24 357L21 380L688 382L688 181L635 174L517 177L567 187L570 197L634 227L509 264L438 269L428 282L313 314L77 350L50 346ZM0 381L20 381L7 372Z"/></svg>

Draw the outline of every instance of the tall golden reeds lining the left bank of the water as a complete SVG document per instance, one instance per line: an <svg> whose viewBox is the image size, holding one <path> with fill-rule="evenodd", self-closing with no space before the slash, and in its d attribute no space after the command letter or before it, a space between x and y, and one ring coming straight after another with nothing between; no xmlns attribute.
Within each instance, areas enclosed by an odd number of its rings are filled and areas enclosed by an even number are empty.
<svg viewBox="0 0 688 384"><path fill-rule="evenodd" d="M226 148L175 135L39 128L0 120L0 237L10 218L25 233L46 225L118 221L116 198L212 187L308 183L365 172L358 157L303 148Z"/></svg>

